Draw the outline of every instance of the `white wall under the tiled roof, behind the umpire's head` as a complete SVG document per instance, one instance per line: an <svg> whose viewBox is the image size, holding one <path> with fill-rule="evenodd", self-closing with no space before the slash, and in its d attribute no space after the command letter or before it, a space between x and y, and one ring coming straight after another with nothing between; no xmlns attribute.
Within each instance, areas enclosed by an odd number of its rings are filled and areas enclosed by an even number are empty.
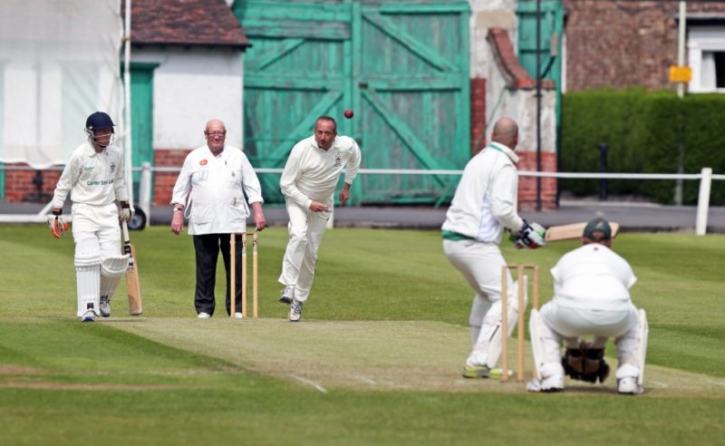
<svg viewBox="0 0 725 446"><path fill-rule="evenodd" d="M131 62L159 63L153 76L153 148L194 149L210 119L242 147L243 53L225 48L134 49Z"/></svg>

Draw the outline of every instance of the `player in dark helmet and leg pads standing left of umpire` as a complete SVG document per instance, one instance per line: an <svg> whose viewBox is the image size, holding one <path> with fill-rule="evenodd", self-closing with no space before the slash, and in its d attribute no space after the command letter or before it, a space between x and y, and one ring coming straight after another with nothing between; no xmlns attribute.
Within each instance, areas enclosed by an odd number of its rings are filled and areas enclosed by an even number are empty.
<svg viewBox="0 0 725 446"><path fill-rule="evenodd" d="M65 164L53 193L53 215L48 216L53 237L61 238L67 228L63 203L71 193L76 315L82 322L111 315L111 297L129 266L129 256L121 256L119 221L131 219L133 208L121 170L121 150L111 145L113 126L111 117L102 111L88 117L88 141Z"/></svg>

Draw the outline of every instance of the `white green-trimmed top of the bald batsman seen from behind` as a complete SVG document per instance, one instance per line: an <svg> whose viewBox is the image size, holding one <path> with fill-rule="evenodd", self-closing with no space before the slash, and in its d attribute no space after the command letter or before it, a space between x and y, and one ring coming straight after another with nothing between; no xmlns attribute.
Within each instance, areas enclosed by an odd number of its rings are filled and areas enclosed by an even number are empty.
<svg viewBox="0 0 725 446"><path fill-rule="evenodd" d="M481 242L500 243L504 228L520 230L518 157L504 144L491 142L469 160L442 229Z"/></svg>

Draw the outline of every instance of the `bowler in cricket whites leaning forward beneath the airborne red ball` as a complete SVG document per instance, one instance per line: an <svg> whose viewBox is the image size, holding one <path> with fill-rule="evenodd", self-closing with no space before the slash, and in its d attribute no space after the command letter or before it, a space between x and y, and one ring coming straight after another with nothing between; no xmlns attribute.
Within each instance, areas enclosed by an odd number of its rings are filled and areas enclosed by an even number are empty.
<svg viewBox="0 0 725 446"><path fill-rule="evenodd" d="M298 322L312 289L317 250L333 212L333 195L344 170L340 205L350 199L350 187L360 167L360 148L352 138L337 134L329 116L314 121L314 135L295 144L279 185L289 214L289 242L279 283L285 286L279 301L290 304L289 320Z"/></svg>

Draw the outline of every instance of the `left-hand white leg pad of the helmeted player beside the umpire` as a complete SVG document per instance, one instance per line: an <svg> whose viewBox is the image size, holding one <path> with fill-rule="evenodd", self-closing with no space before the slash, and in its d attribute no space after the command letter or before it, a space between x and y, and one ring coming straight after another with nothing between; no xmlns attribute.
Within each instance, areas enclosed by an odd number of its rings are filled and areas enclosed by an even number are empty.
<svg viewBox="0 0 725 446"><path fill-rule="evenodd" d="M75 280L78 309L81 317L91 304L98 315L101 297L101 247L97 238L83 238L75 245Z"/></svg>

